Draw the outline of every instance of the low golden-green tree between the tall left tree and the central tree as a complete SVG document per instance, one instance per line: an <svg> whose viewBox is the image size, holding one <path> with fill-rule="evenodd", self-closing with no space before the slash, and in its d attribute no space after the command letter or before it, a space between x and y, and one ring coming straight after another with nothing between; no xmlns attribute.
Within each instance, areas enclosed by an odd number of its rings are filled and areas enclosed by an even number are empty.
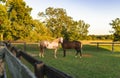
<svg viewBox="0 0 120 78"><path fill-rule="evenodd" d="M31 41L46 40L51 38L50 30L39 20L33 20L33 30L30 32Z"/></svg>

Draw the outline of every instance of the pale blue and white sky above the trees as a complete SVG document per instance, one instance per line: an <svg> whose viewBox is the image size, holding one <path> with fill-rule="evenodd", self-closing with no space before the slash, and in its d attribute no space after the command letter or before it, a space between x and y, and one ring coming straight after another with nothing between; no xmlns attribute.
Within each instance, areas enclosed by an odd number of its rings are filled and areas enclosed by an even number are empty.
<svg viewBox="0 0 120 78"><path fill-rule="evenodd" d="M112 20L120 18L120 0L24 0L33 10L31 16L39 19L38 13L48 7L63 8L74 20L90 24L90 35L111 34Z"/></svg>

